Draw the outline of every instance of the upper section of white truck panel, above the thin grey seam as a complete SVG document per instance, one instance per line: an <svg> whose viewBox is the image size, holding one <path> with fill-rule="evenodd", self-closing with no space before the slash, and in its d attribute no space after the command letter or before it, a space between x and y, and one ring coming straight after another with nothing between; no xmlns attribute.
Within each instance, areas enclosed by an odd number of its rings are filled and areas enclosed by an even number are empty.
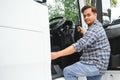
<svg viewBox="0 0 120 80"><path fill-rule="evenodd" d="M47 6L34 0L0 0L2 26L41 31L49 28L48 18Z"/></svg>

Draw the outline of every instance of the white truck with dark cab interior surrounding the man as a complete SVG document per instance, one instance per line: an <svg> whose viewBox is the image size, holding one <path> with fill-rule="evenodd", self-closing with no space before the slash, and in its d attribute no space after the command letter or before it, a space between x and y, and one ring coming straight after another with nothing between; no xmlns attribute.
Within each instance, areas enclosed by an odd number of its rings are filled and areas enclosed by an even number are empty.
<svg viewBox="0 0 120 80"><path fill-rule="evenodd" d="M79 24L87 28L76 0ZM51 52L71 45L82 35L72 20L58 16L49 20L48 0L0 1L0 80L65 80L62 70L79 60L82 52L51 60ZM110 0L90 0L108 36L111 56L102 80L120 79L120 21L111 20ZM69 14L68 14L69 15ZM106 18L107 17L107 18ZM86 80L79 77L78 80Z"/></svg>

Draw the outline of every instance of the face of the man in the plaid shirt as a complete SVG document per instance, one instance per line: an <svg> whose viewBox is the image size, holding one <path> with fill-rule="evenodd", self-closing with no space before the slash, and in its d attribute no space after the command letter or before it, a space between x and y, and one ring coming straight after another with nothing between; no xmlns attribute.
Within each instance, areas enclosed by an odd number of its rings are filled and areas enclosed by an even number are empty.
<svg viewBox="0 0 120 80"><path fill-rule="evenodd" d="M83 12L83 16L86 24L91 25L96 20L97 13L93 13L91 8L88 8Z"/></svg>

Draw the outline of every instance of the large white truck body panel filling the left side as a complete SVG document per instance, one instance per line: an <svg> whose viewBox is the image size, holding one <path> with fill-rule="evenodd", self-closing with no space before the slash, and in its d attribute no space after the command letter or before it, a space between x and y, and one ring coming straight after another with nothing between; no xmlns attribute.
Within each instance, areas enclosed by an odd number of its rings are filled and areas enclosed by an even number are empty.
<svg viewBox="0 0 120 80"><path fill-rule="evenodd" d="M0 0L0 80L51 80L47 7Z"/></svg>

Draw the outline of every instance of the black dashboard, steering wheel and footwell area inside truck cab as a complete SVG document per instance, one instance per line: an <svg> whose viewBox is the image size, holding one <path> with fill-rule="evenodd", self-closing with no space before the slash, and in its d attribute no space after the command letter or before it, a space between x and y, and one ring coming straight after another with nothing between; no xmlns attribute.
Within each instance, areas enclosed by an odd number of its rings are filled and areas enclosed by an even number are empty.
<svg viewBox="0 0 120 80"><path fill-rule="evenodd" d="M59 25L58 25L59 24ZM50 20L51 51L59 51L71 45L74 40L75 24L63 17ZM80 54L73 54L53 60L51 63L52 78L62 77L62 70L78 61Z"/></svg>

